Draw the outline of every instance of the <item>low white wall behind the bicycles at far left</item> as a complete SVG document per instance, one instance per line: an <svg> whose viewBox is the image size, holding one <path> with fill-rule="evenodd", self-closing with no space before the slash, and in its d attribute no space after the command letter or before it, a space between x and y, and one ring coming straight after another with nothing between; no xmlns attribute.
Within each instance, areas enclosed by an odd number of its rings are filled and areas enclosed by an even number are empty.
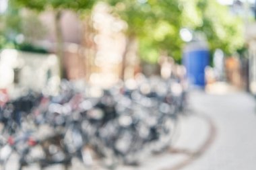
<svg viewBox="0 0 256 170"><path fill-rule="evenodd" d="M14 69L20 70L18 83L14 83ZM47 76L48 71L51 71L50 77ZM8 89L9 93L18 89L48 89L53 93L59 82L59 63L54 54L13 49L5 49L0 53L0 89Z"/></svg>

